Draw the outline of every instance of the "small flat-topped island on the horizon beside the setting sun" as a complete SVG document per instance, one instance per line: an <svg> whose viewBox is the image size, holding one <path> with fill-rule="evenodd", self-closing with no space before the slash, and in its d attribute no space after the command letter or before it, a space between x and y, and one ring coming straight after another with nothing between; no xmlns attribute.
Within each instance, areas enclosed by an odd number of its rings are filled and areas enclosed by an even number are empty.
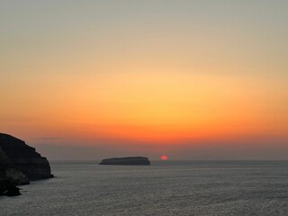
<svg viewBox="0 0 288 216"><path fill-rule="evenodd" d="M148 157L112 157L101 161L99 165L150 165Z"/></svg>

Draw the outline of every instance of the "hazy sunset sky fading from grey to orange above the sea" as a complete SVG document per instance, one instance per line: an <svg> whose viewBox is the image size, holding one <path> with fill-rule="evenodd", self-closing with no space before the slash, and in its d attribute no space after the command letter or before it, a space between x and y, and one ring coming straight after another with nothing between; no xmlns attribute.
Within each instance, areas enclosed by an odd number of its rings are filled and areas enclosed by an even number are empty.
<svg viewBox="0 0 288 216"><path fill-rule="evenodd" d="M288 159L287 11L0 1L0 131L50 159Z"/></svg>

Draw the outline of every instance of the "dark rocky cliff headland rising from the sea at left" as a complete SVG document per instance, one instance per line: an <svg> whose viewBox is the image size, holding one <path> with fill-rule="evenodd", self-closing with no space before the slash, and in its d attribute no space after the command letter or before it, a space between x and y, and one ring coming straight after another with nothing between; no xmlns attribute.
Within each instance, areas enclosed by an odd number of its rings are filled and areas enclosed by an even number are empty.
<svg viewBox="0 0 288 216"><path fill-rule="evenodd" d="M0 133L0 195L20 194L15 185L54 177L49 161L23 140Z"/></svg>

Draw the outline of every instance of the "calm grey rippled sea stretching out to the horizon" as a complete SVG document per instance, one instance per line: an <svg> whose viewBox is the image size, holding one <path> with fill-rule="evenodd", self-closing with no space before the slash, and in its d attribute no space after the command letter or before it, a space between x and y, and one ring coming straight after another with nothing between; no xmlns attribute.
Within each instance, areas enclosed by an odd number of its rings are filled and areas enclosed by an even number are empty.
<svg viewBox="0 0 288 216"><path fill-rule="evenodd" d="M0 215L288 215L287 161L51 162Z"/></svg>

